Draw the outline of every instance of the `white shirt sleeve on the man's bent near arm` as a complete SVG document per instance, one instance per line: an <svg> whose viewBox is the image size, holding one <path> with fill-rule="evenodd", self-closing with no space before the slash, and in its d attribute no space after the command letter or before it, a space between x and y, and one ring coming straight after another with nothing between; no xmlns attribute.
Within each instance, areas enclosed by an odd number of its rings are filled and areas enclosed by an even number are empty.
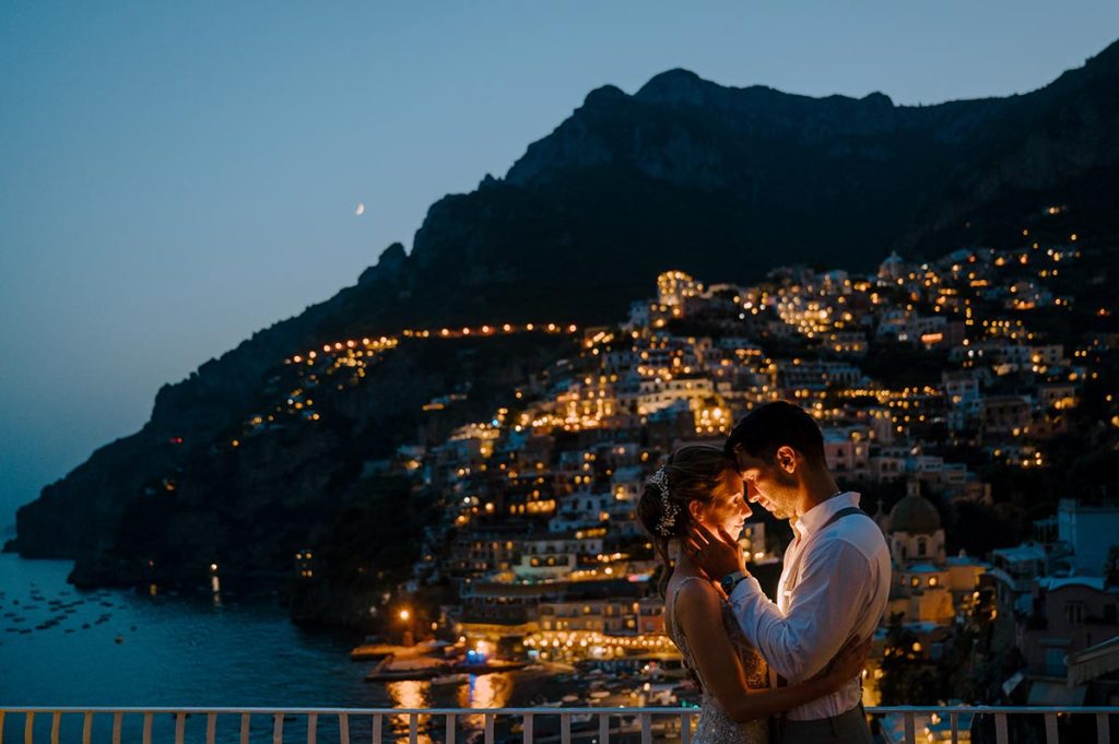
<svg viewBox="0 0 1119 744"><path fill-rule="evenodd" d="M866 556L847 540L833 539L801 559L788 612L778 610L752 576L739 582L730 601L746 639L796 682L824 669L850 638L871 580Z"/></svg>

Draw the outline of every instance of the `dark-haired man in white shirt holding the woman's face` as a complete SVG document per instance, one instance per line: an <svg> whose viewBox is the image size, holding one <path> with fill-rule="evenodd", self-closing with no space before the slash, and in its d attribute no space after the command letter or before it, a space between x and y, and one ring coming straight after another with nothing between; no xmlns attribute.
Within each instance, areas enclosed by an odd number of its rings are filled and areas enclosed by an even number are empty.
<svg viewBox="0 0 1119 744"><path fill-rule="evenodd" d="M771 678L808 679L853 635L874 634L890 592L890 550L878 526L858 508L858 493L836 486L820 430L799 406L777 402L755 408L734 427L726 452L750 501L792 524L777 602L762 593L726 533L693 527L689 549L720 581ZM778 741L790 744L869 743L861 680L793 708L777 728Z"/></svg>

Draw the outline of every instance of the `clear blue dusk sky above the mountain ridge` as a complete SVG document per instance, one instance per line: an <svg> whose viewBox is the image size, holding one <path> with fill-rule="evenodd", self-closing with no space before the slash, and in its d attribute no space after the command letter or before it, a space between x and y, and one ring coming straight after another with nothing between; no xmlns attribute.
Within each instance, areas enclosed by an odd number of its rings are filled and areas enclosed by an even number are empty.
<svg viewBox="0 0 1119 744"><path fill-rule="evenodd" d="M160 385L411 247L594 87L685 67L939 103L1037 88L1117 32L1115 0L6 0L0 537Z"/></svg>

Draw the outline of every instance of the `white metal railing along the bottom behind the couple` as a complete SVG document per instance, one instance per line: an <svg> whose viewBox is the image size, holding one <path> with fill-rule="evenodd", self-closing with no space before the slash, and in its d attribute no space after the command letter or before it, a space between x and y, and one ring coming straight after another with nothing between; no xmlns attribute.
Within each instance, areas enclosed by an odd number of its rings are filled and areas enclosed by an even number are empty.
<svg viewBox="0 0 1119 744"><path fill-rule="evenodd" d="M1110 744L1111 716L1119 716L1119 707L989 707L989 706L940 706L940 707L876 707L867 708L867 713L880 719L900 722L901 736L893 736L885 731L887 742L916 744L919 741L968 742L970 740L971 722L976 716L989 716L995 742L1009 744L1009 719L1013 716L1034 716L1042 718L1046 744L1060 744L1060 721L1065 717L1094 718L1096 741L1099 744ZM23 744L49 741L77 742L92 744L96 738L98 744L110 741L112 744L135 742L135 728L139 727L141 744L151 744L153 728L157 741L167 742L173 729L173 743L205 741L206 744L222 742L239 742L251 744L267 736L271 729L271 744L304 741L307 744L318 744L320 729L326 736L325 744L350 744L351 742L372 742L387 744L407 738L408 744L421 742L439 742L455 744L461 735L464 742L496 744L497 723L499 718L511 719L509 734L502 738L524 744L572 744L576 738L591 738L595 744L610 744L611 736L619 740L640 741L640 744L653 744L655 741L679 741L690 744L695 717L698 708L104 708L104 707L18 707L0 706L0 742L20 741L19 729L22 728ZM933 734L924 731L923 722L932 719L948 721L949 726L943 732ZM21 721L20 721L21 718ZM188 718L195 718L188 731ZM205 719L205 729L200 721ZM218 721L226 722L218 738ZM138 721L139 719L139 721ZM302 726L285 726L299 723ZM49 740L46 738L47 721L49 721ZM133 729L125 735L125 722ZM231 722L233 722L231 724ZM439 723L442 726L439 726ZM590 725L594 722L596 725ZM961 722L963 722L961 724ZM77 724L81 724L81 738L77 735ZM98 735L94 736L95 723ZM537 724L547 726L537 726ZM64 732L64 724L67 731ZM110 728L111 724L111 728ZM197 724L197 725L196 725ZM387 726L386 726L387 724ZM919 732L919 724L922 729ZM237 737L233 737L231 725L236 725ZM519 726L519 731L514 728ZM7 727L7 728L6 728ZM292 729L295 728L293 732ZM545 731L545 728L547 731ZM285 733L286 732L286 733ZM298 733L297 733L298 732ZM255 740L252 734L256 734ZM442 737L438 734L442 733ZM918 738L920 733L920 740ZM65 734L65 735L64 735ZM517 735L519 734L519 736ZM656 735L656 736L655 736ZM989 734L988 734L989 736ZM263 741L267 741L264 738ZM1071 742L1072 740L1068 740ZM1080 744L1078 740L1076 744Z"/></svg>

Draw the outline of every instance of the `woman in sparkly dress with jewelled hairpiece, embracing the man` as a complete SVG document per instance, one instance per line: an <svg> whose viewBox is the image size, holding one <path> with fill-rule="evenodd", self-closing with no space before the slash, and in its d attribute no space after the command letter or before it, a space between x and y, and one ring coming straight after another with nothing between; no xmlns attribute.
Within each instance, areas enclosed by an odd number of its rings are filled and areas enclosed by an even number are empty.
<svg viewBox="0 0 1119 744"><path fill-rule="evenodd" d="M863 669L871 647L852 639L819 676L770 688L765 660L743 638L718 584L679 549L693 521L741 534L752 514L744 497L723 451L696 444L668 456L637 506L664 564L665 629L703 691L695 744L768 743L769 716L839 689Z"/></svg>

